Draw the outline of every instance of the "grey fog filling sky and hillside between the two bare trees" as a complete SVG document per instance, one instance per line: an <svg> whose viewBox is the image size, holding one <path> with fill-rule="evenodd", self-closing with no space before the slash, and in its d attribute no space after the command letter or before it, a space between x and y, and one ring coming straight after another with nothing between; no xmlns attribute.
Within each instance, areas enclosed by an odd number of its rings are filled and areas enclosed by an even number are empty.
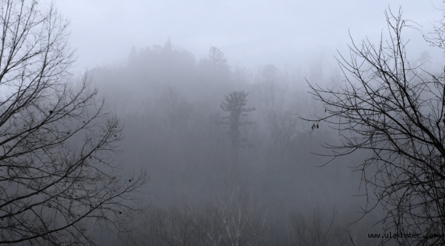
<svg viewBox="0 0 445 246"><path fill-rule="evenodd" d="M413 64L439 69L443 53L422 39L442 17L439 3L58 1L77 54L73 80L91 79L123 122L116 162L150 176L141 193L149 209L127 232L103 230L98 240L179 245L171 238L195 233L188 225L209 235L213 224L216 235L232 219L244 245L352 245L350 235L375 245L368 233L380 232L384 215L379 208L362 217L376 204L353 172L370 153L319 155L340 133L303 120L325 115L307 83L338 90L344 75L334 56L348 56L350 34L378 43L388 8L418 23L404 36ZM255 110L241 115L234 158L221 105L241 91Z"/></svg>

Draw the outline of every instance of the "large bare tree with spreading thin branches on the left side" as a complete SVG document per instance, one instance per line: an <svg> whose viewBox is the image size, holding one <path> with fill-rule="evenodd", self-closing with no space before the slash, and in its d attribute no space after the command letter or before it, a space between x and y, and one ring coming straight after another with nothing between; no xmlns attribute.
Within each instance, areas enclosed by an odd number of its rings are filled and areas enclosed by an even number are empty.
<svg viewBox="0 0 445 246"><path fill-rule="evenodd" d="M113 161L122 126L90 80L66 82L67 25L53 5L1 1L0 245L94 245L94 226L119 228L147 182Z"/></svg>

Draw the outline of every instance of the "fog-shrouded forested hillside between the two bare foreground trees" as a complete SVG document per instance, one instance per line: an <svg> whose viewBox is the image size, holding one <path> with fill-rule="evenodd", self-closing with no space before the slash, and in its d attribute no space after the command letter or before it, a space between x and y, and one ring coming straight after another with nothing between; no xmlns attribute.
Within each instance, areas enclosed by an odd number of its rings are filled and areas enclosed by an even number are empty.
<svg viewBox="0 0 445 246"><path fill-rule="evenodd" d="M348 231L357 242L374 243L367 233L376 219L353 223L366 200L353 197L363 192L349 167L365 153L325 165L330 159L316 154L327 154L321 145L335 143L339 133L322 123L312 131L301 119L325 113L307 93L305 77L334 88L341 83L340 72L322 59L308 68L268 64L252 71L230 66L214 46L196 60L167 40L133 47L126 63L86 76L125 124L117 159L150 176L144 201L151 207L130 223L124 245L212 244L203 236L209 225L216 226L215 245L344 245ZM223 104L237 92L245 92L243 108L255 110L240 115L235 160Z"/></svg>

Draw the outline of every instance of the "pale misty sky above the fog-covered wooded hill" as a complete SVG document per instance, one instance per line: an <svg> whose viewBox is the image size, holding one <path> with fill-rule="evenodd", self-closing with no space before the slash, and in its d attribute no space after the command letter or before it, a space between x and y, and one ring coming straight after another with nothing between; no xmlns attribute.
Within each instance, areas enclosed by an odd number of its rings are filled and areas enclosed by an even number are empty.
<svg viewBox="0 0 445 246"><path fill-rule="evenodd" d="M385 25L383 11L388 4L404 18L416 20L425 31L429 21L441 18L433 5L442 1L373 0L63 0L57 1L62 14L71 21L71 44L77 49L79 72L116 64L136 48L173 45L204 57L209 46L217 46L229 64L243 66L285 63L304 64L314 55L333 57L350 43L365 36L378 41ZM418 47L413 56L428 50L422 34L408 31ZM420 45L419 45L420 44ZM439 55L437 55L439 54Z"/></svg>

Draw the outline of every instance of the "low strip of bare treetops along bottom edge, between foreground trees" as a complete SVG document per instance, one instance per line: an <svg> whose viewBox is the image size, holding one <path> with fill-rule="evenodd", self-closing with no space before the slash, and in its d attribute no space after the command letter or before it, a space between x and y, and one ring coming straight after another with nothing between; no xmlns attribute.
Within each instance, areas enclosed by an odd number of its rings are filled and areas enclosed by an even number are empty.
<svg viewBox="0 0 445 246"><path fill-rule="evenodd" d="M200 206L153 206L131 224L121 245L375 245L369 219L349 228L352 219L338 210L277 213L234 187ZM363 224L365 223L365 224ZM352 241L351 241L352 239ZM354 242L354 243L352 243Z"/></svg>

